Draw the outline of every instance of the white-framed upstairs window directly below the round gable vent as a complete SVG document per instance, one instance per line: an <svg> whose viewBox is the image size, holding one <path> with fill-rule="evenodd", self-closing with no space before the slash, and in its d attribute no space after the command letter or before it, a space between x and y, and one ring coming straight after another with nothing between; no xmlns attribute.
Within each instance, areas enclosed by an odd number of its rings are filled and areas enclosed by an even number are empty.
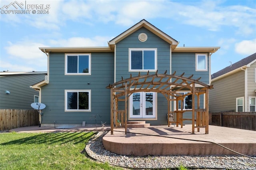
<svg viewBox="0 0 256 170"><path fill-rule="evenodd" d="M130 48L129 71L156 71L156 48Z"/></svg>

